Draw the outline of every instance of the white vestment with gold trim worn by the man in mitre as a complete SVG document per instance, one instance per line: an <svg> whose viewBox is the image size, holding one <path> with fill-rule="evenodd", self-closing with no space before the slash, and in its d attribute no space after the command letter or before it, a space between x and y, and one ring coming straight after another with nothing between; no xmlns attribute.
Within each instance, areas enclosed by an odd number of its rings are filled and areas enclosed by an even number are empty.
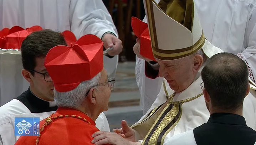
<svg viewBox="0 0 256 145"><path fill-rule="evenodd" d="M203 67L200 69L200 71L202 69ZM193 130L194 128L199 127L200 125L208 121L210 114L208 109L206 108L203 91L201 90L200 87L200 84L203 82L201 79L200 71L198 72L195 81L188 88L186 88L184 91L180 93L175 93L172 103L181 103L181 113L179 119L169 128L170 130L166 131L166 133L162 136L162 138L164 138L163 141L166 141L167 139L171 138L174 135L183 133L185 131ZM160 93L158 94L155 102L152 104L152 107L148 110L147 114L144 115L132 127L133 129L135 129L137 140L144 139L145 134L148 133L149 128L150 130L158 130L156 128L152 129L154 127L154 125L152 126L152 124L155 122L155 120L157 120L157 118L151 117L145 120L144 118L148 116L152 109L164 104L167 101L167 96L171 96L174 93L174 91L169 87L169 84L165 79L164 84L166 89L164 89L164 86L162 85ZM254 89L250 89L249 95L245 97L243 116L245 117L247 126L256 130L256 85L254 86L250 84L250 86ZM165 93L165 91L167 93ZM158 115L156 115L156 117L160 116L159 113ZM175 114L175 109L173 113ZM172 115L173 114L171 114L171 116ZM165 119L165 121L168 120L172 119ZM142 126L141 124L144 125ZM158 127L160 126L161 125L159 125ZM156 134L152 136L157 136Z"/></svg>

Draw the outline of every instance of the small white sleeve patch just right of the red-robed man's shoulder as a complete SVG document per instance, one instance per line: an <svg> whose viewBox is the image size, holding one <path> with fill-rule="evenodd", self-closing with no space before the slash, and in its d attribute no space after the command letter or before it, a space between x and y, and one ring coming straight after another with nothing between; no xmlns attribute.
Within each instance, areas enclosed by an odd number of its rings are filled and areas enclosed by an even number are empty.
<svg viewBox="0 0 256 145"><path fill-rule="evenodd" d="M99 117L95 120L96 127L101 131L110 131L108 119L105 114L102 112L99 114Z"/></svg>

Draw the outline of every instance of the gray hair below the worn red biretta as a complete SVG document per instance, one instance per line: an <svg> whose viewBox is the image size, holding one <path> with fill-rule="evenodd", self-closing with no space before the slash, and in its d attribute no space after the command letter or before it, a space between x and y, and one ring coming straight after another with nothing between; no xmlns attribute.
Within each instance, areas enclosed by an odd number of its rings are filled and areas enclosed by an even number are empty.
<svg viewBox="0 0 256 145"><path fill-rule="evenodd" d="M54 102L58 107L78 108L85 100L86 93L99 84L100 79L101 73L98 73L91 80L82 81L74 90L58 92L54 89Z"/></svg>

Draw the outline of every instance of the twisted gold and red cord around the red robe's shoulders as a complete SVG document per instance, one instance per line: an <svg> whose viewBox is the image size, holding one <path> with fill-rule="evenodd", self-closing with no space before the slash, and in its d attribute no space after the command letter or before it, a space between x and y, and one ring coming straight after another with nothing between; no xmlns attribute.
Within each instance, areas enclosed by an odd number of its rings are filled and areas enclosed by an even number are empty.
<svg viewBox="0 0 256 145"><path fill-rule="evenodd" d="M52 123L53 120L55 120L55 119L65 118L65 117L73 117L73 118L77 118L77 119L83 120L83 121L86 122L86 123L91 124L87 119L85 119L85 118L83 118L83 117L81 117L81 116L77 116L77 115L60 115L60 116L52 117L53 114L54 114L54 113L52 113L49 117L47 117L47 118L45 119L45 123L43 123L42 128L39 130L39 136L37 136L37 138L36 138L36 145L38 145L38 143L39 143L39 139L40 139L40 137L41 137L42 131L45 129L45 127L46 127L47 125L49 125L50 123Z"/></svg>

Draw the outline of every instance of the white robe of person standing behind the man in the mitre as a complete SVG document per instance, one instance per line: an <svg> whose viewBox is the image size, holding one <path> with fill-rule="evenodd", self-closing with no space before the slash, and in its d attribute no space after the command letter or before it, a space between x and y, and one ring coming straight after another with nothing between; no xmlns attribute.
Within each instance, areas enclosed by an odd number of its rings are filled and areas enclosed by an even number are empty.
<svg viewBox="0 0 256 145"><path fill-rule="evenodd" d="M155 0L157 3L159 0ZM224 52L246 60L252 81L256 77L256 0L194 0L206 39ZM146 18L143 20L147 22ZM136 80L143 114L160 92L163 78L145 76L145 61L136 61ZM254 75L254 77L252 77Z"/></svg>

